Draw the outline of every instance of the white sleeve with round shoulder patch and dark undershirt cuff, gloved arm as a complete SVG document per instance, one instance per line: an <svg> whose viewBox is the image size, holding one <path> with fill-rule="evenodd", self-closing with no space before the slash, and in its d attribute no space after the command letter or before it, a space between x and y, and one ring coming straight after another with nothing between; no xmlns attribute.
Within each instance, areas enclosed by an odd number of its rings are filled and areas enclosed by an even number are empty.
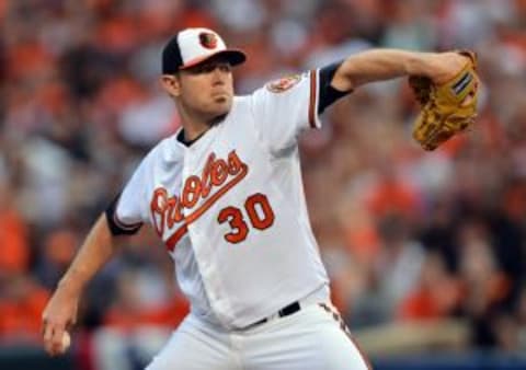
<svg viewBox="0 0 526 370"><path fill-rule="evenodd" d="M256 130L278 152L297 142L299 134L320 128L319 115L348 94L331 86L341 62L270 82L251 95Z"/></svg>

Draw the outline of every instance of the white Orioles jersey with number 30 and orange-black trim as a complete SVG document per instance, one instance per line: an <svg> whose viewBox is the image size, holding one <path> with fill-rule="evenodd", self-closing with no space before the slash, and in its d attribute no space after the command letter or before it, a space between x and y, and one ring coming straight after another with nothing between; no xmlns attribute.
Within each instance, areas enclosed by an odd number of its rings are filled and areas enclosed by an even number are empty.
<svg viewBox="0 0 526 370"><path fill-rule="evenodd" d="M155 147L114 206L111 223L149 222L175 263L194 313L245 327L322 289L297 138L319 127L319 70L236 96L226 118L186 146Z"/></svg>

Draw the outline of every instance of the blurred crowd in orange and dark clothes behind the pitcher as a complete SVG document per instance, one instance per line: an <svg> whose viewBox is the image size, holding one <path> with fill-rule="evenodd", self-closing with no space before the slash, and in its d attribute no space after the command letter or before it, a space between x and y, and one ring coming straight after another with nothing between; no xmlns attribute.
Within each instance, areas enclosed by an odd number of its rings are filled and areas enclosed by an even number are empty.
<svg viewBox="0 0 526 370"><path fill-rule="evenodd" d="M371 47L478 53L477 124L434 152L407 81L339 101L301 138L307 203L352 328L456 317L472 348L526 349L526 1L0 0L0 343L39 340L89 227L180 125L163 44L207 26L249 55L240 94ZM175 327L163 246L145 230L121 248L77 331Z"/></svg>

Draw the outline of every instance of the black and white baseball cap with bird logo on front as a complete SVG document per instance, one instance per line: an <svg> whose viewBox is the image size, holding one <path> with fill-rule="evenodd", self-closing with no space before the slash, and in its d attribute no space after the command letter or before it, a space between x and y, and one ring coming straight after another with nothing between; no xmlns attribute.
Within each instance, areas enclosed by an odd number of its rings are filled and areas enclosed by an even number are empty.
<svg viewBox="0 0 526 370"><path fill-rule="evenodd" d="M247 56L239 49L227 48L222 38L208 28L185 28L175 34L162 49L162 73L171 74L222 55L232 65Z"/></svg>

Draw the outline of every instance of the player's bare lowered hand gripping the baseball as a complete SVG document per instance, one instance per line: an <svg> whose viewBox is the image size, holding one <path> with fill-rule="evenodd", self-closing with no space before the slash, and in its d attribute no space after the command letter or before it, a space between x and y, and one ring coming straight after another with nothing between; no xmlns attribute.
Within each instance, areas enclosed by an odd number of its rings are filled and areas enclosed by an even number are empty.
<svg viewBox="0 0 526 370"><path fill-rule="evenodd" d="M42 335L45 350L57 356L66 351L62 336L77 321L80 293L59 286L42 313Z"/></svg>

